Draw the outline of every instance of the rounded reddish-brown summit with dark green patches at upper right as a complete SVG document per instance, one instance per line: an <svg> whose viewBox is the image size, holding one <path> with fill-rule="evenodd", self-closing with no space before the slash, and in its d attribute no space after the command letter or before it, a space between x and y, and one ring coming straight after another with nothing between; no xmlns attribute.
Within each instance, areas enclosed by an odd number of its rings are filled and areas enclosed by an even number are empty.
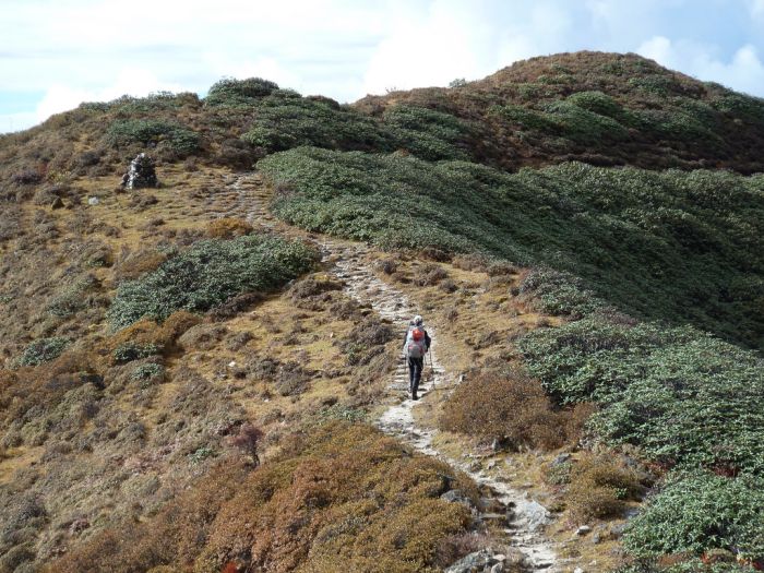
<svg viewBox="0 0 764 573"><path fill-rule="evenodd" d="M395 92L356 104L383 116L396 106L434 109L477 126L475 157L502 168L582 160L762 171L762 99L632 53L533 58L454 88Z"/></svg>

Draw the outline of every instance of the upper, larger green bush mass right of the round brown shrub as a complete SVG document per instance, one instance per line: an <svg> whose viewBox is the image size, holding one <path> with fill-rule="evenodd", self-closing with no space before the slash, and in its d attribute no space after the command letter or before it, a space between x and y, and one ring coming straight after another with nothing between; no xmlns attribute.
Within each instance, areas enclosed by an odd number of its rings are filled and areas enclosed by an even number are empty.
<svg viewBox="0 0 764 573"><path fill-rule="evenodd" d="M667 464L764 475L762 359L692 329L583 320L521 343L560 403L594 401L590 428Z"/></svg>

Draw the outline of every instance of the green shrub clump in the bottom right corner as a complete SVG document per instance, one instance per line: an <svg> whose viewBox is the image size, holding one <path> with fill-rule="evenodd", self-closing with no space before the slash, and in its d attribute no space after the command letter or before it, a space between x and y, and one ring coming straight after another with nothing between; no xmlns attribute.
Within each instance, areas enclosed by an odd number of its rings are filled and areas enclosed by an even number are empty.
<svg viewBox="0 0 764 573"><path fill-rule="evenodd" d="M636 557L726 549L764 559L764 481L695 471L671 476L623 537Z"/></svg>

